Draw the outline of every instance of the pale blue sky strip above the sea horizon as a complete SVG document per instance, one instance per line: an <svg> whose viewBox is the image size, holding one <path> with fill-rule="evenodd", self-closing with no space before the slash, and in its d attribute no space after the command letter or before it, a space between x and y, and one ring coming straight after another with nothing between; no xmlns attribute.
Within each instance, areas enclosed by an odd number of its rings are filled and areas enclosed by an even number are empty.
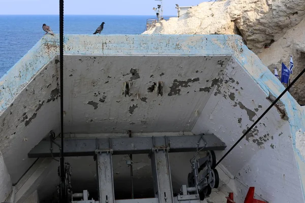
<svg viewBox="0 0 305 203"><path fill-rule="evenodd" d="M196 6L207 0L163 0L164 16L177 14L175 4ZM56 15L58 0L0 0L0 15ZM67 15L155 15L155 0L65 0Z"/></svg>

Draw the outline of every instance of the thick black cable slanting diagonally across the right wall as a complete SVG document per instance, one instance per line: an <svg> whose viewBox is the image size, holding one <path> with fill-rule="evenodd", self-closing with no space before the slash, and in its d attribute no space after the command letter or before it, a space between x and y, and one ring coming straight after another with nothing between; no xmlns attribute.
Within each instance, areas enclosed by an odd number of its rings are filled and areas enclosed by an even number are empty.
<svg viewBox="0 0 305 203"><path fill-rule="evenodd" d="M273 101L273 103L266 109L266 111L251 125L251 127L238 139L238 141L227 151L227 153L221 157L221 159L216 163L218 165L233 149L236 147L236 145L243 139L245 136L252 130L252 128L264 117L264 115L278 102L278 100L290 89L290 87L305 73L305 69L301 71L297 75L297 77L290 83L287 88L278 96L276 100Z"/></svg>

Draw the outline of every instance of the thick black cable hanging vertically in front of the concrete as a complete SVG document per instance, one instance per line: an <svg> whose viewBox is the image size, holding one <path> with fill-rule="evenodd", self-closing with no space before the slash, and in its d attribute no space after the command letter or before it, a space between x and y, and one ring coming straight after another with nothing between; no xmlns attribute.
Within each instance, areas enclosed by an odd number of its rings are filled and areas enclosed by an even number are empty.
<svg viewBox="0 0 305 203"><path fill-rule="evenodd" d="M64 159L64 0L59 0L59 65L60 65L60 202L68 202Z"/></svg>

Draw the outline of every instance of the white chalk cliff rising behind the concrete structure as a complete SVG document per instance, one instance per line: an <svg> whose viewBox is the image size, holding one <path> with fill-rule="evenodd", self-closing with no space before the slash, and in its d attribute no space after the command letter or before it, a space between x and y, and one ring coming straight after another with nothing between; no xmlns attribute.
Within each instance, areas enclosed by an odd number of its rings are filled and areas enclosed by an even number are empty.
<svg viewBox="0 0 305 203"><path fill-rule="evenodd" d="M189 5L188 5L189 6ZM289 65L291 79L305 67L305 0L227 0L204 2L179 18L162 21L143 34L207 35L237 34L273 71ZM305 77L291 89L299 104L305 105Z"/></svg>

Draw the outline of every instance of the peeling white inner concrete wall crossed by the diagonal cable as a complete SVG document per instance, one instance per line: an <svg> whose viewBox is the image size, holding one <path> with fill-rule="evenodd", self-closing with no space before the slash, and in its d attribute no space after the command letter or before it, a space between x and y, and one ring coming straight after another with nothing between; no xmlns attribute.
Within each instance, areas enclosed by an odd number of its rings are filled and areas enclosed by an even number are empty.
<svg viewBox="0 0 305 203"><path fill-rule="evenodd" d="M261 88L252 88L255 81L234 58L220 81L192 132L214 133L228 145L228 150L270 101ZM222 163L236 180L254 186L256 193L269 202L302 202L290 126L287 115L281 116L273 107ZM217 157L221 158L227 150L218 152ZM237 196L244 198L248 189L242 185L237 189Z"/></svg>

